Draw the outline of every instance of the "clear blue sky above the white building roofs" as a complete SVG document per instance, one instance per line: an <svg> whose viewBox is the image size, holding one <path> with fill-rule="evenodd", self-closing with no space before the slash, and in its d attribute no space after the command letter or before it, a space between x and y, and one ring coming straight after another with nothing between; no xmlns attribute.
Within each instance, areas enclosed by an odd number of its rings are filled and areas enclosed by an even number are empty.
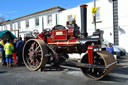
<svg viewBox="0 0 128 85"><path fill-rule="evenodd" d="M69 9L91 1L93 0L1 0L0 17L15 19L54 6Z"/></svg>

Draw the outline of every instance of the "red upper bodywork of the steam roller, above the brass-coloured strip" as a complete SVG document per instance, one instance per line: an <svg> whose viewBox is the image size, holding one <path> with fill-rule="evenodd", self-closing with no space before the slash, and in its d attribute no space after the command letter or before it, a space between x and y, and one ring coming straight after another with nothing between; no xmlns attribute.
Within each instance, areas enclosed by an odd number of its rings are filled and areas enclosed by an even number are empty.
<svg viewBox="0 0 128 85"><path fill-rule="evenodd" d="M42 32L38 35L36 39L42 39L46 41L47 44L56 44L56 45L75 45L79 44L77 42L78 38L73 37L73 28L69 30L53 30L49 31L51 34L50 37L47 37L45 40L45 33Z"/></svg>

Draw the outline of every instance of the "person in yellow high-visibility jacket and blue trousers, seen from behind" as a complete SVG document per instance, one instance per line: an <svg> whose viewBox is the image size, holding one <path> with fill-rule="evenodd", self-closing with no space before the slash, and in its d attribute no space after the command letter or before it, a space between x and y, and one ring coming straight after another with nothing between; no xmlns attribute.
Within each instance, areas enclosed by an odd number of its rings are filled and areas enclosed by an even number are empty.
<svg viewBox="0 0 128 85"><path fill-rule="evenodd" d="M11 43L11 40L7 40L7 43L4 45L4 50L5 50L5 57L6 57L7 67L11 67L12 66L12 61L13 61L12 53L14 51L14 47Z"/></svg>

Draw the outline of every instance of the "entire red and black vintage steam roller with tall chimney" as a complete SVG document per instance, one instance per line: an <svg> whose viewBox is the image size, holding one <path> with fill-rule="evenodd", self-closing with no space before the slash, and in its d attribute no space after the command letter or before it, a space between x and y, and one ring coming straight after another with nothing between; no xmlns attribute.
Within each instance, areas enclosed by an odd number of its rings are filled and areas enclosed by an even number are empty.
<svg viewBox="0 0 128 85"><path fill-rule="evenodd" d="M70 53L85 53L81 62L71 61L82 72L95 80L103 78L115 68L113 55L102 49L103 33L97 30L87 36L87 5L81 5L81 33L72 21L68 29L57 25L52 30L45 30L36 39L30 39L23 48L23 61L30 70L43 69L46 64L60 65L68 60Z"/></svg>

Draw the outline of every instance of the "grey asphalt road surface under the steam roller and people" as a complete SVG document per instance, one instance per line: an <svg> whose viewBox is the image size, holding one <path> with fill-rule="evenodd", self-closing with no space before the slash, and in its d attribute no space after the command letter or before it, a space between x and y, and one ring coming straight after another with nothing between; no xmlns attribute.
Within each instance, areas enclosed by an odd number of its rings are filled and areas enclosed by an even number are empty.
<svg viewBox="0 0 128 85"><path fill-rule="evenodd" d="M0 85L128 85L128 56L119 59L117 68L102 80L85 77L78 68L63 67L56 71L29 71L22 67L0 66Z"/></svg>

